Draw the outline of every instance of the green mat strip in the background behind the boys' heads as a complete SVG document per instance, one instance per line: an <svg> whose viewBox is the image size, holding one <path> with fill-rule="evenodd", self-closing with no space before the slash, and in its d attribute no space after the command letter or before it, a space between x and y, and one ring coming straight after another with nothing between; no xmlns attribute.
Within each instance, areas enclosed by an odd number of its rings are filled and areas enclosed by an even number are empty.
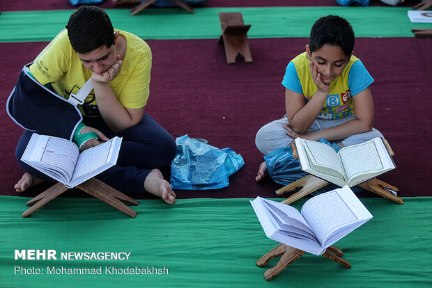
<svg viewBox="0 0 432 288"><path fill-rule="evenodd" d="M179 8L143 10L130 16L128 9L107 13L118 29L144 39L219 38L219 12L241 12L245 24L252 24L249 38L309 37L312 24L325 15L340 15L353 25L357 37L414 37L411 28L432 24L411 23L402 7L265 7L195 8L194 14ZM49 41L61 31L72 10L3 12L0 42Z"/></svg>

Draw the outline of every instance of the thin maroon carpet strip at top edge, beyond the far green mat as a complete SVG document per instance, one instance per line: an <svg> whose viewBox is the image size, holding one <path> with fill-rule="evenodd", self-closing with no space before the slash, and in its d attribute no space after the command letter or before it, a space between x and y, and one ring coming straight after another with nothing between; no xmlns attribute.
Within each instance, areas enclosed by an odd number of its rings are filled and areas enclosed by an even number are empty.
<svg viewBox="0 0 432 288"><path fill-rule="evenodd" d="M7 2L7 3L4 3ZM400 6L414 6L419 0L408 0ZM104 9L132 8L136 4L114 5L111 0L105 0L98 4ZM208 0L202 7L273 7L273 6L339 6L335 0ZM381 1L370 0L369 6L387 6ZM43 1L1 1L0 10L58 10L74 9L68 0L43 0ZM152 7L150 7L152 8Z"/></svg>

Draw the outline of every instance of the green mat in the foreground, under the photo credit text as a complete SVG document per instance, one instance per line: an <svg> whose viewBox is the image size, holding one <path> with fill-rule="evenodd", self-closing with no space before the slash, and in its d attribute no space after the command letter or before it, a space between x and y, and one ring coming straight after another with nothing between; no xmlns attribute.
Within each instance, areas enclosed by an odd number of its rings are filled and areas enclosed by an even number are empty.
<svg viewBox="0 0 432 288"><path fill-rule="evenodd" d="M306 254L270 282L263 273L277 260L266 268L255 262L277 242L265 237L247 199L178 200L172 207L141 200L133 207L137 218L130 218L93 198L58 198L22 218L27 200L0 197L0 287L432 286L432 198L404 198L404 205L362 199L374 218L337 243L353 268ZM58 259L15 260L22 249L56 250ZM60 258L84 252L130 255ZM60 274L48 274L54 266ZM110 274L128 266L144 270ZM100 267L101 275L66 274Z"/></svg>

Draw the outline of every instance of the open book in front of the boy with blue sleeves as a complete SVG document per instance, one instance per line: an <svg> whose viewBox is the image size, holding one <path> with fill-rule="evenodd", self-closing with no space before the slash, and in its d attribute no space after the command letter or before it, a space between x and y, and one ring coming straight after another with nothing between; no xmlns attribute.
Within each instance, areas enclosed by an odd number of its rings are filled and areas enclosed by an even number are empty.
<svg viewBox="0 0 432 288"><path fill-rule="evenodd" d="M295 139L300 166L304 172L350 187L396 168L381 138L334 151L325 143Z"/></svg>

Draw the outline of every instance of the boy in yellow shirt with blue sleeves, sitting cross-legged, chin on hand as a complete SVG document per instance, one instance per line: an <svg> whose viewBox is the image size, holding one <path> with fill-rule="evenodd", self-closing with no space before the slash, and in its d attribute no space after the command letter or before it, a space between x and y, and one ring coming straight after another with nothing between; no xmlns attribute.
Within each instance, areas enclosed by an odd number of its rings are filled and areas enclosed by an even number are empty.
<svg viewBox="0 0 432 288"><path fill-rule="evenodd" d="M339 146L363 143L383 135L373 128L373 78L353 56L355 37L346 19L329 15L312 26L306 51L286 67L286 116L256 134L263 154L287 147L295 138L335 141ZM256 180L267 173L261 163Z"/></svg>

